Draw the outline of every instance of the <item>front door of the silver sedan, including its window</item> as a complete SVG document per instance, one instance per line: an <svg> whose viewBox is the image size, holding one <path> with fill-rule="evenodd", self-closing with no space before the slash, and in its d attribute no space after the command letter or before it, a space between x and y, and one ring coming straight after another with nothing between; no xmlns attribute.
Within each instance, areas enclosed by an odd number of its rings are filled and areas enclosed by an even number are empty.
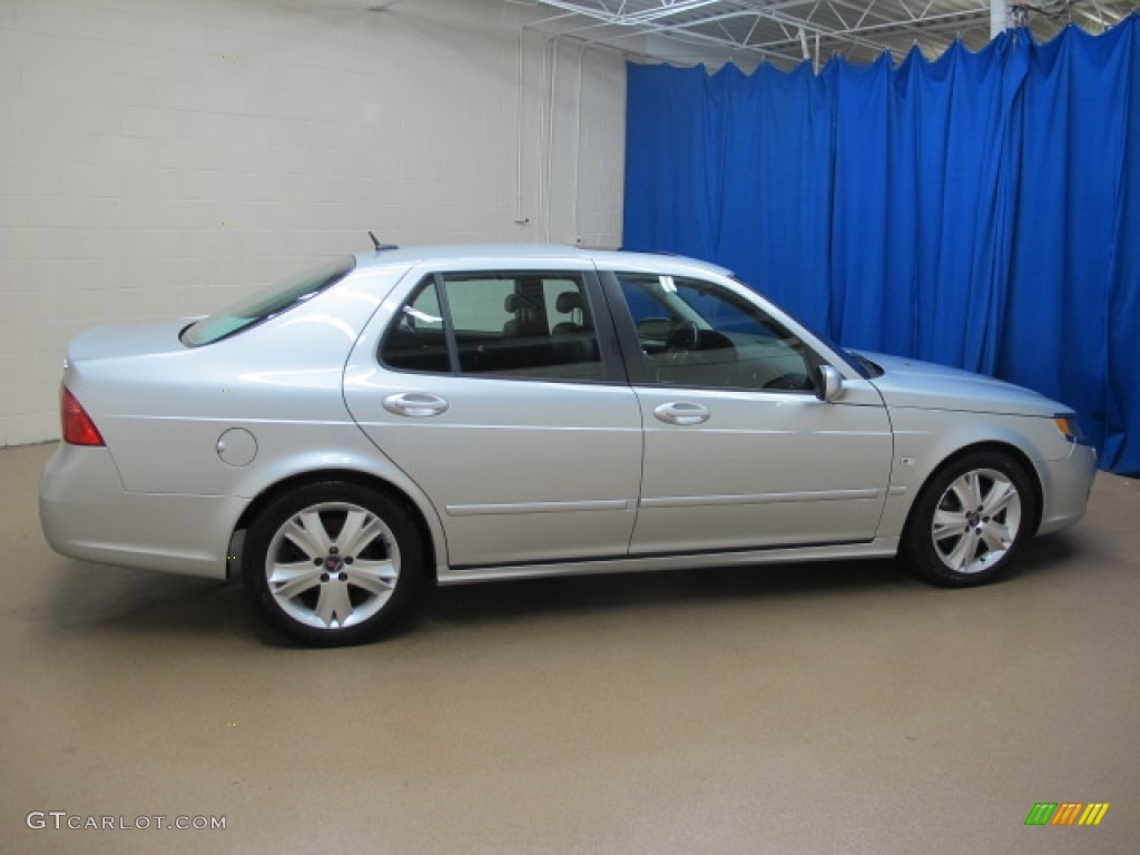
<svg viewBox="0 0 1140 855"><path fill-rule="evenodd" d="M820 400L822 357L722 284L618 274L610 296L637 333L645 455L632 554L873 539L893 440L868 381L848 376L839 401Z"/></svg>

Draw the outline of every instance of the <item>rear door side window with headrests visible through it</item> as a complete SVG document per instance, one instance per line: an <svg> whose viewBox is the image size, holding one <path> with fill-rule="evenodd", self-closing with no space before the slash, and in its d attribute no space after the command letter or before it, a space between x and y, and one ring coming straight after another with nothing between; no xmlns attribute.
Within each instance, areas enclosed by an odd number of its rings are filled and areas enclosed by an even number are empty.
<svg viewBox="0 0 1140 855"><path fill-rule="evenodd" d="M398 370L603 378L586 285L577 274L429 276L398 312L380 358Z"/></svg>

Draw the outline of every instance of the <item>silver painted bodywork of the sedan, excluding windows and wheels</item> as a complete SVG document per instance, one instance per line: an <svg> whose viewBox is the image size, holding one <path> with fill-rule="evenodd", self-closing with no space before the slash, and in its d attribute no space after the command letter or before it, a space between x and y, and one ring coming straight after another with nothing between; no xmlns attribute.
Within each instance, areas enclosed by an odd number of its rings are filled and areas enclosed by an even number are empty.
<svg viewBox="0 0 1140 855"><path fill-rule="evenodd" d="M65 382L107 448L64 445L49 462L41 516L51 545L220 577L251 503L288 479L355 473L418 510L445 584L885 556L922 484L982 445L1017 449L1029 464L1041 531L1084 513L1096 455L1057 430L1065 407L878 355L886 374L864 380L720 268L531 246L358 261L307 303L211 345L178 342L188 320L78 336ZM595 267L703 278L759 302L836 369L834 400L397 374L376 363L392 315L429 272ZM654 416L662 408L708 416L674 424ZM253 438L245 465L220 457L230 431Z"/></svg>

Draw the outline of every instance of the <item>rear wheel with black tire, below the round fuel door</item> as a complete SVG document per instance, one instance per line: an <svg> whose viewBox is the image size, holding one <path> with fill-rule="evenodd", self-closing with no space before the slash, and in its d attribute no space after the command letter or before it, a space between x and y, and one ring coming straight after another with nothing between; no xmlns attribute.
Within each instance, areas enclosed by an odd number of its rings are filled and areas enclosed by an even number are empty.
<svg viewBox="0 0 1140 855"><path fill-rule="evenodd" d="M423 563L408 512L343 481L274 500L250 526L242 554L254 611L287 638L321 648L375 638L410 602Z"/></svg>

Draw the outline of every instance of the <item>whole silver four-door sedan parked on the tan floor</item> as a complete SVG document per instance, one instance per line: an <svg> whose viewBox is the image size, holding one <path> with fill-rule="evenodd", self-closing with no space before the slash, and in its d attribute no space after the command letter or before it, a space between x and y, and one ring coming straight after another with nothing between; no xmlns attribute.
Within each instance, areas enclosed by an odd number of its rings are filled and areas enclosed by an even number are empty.
<svg viewBox="0 0 1140 855"><path fill-rule="evenodd" d="M70 345L58 552L223 578L316 645L423 583L901 554L988 581L1084 514L1074 413L845 351L701 262L378 247Z"/></svg>

